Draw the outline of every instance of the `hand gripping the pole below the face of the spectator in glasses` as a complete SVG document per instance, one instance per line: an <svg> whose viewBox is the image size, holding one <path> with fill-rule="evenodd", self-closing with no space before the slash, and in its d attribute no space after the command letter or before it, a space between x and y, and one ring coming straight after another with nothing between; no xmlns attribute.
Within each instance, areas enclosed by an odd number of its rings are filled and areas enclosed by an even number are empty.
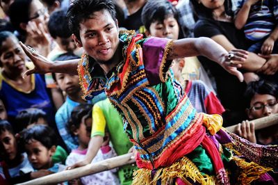
<svg viewBox="0 0 278 185"><path fill-rule="evenodd" d="M236 127L236 134L249 140L251 143L256 143L254 122L249 122L248 120L246 120L243 121L241 124L238 123Z"/></svg>

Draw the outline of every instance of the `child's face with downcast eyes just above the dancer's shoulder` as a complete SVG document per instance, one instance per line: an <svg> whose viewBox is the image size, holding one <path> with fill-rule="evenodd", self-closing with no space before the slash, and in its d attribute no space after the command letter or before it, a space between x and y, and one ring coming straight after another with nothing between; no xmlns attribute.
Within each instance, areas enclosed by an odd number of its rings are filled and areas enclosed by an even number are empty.
<svg viewBox="0 0 278 185"><path fill-rule="evenodd" d="M179 24L177 20L173 17L167 17L163 22L153 22L149 26L149 34L158 38L170 38L178 39L179 38Z"/></svg>

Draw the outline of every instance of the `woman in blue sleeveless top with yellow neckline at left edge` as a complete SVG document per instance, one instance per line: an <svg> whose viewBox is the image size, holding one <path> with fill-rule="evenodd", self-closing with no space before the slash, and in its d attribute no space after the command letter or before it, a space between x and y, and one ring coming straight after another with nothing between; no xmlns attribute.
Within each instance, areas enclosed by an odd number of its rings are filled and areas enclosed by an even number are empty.
<svg viewBox="0 0 278 185"><path fill-rule="evenodd" d="M54 124L54 108L40 74L23 78L22 73L33 67L13 33L0 33L0 98L6 107L8 119L15 127L16 115L26 108L40 108L47 113L47 121Z"/></svg>

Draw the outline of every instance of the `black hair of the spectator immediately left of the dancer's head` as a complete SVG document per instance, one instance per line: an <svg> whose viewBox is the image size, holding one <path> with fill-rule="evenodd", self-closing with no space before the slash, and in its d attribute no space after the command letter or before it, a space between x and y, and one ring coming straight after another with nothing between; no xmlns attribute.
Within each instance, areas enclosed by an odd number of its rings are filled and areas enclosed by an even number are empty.
<svg viewBox="0 0 278 185"><path fill-rule="evenodd" d="M72 32L67 22L67 10L59 9L51 13L47 24L49 33L52 38L69 38Z"/></svg>

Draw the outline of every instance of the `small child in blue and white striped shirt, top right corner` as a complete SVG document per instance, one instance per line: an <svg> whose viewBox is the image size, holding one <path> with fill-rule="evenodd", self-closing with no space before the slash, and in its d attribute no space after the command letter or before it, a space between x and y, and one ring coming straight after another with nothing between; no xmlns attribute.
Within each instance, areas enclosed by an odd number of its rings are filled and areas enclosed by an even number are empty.
<svg viewBox="0 0 278 185"><path fill-rule="evenodd" d="M244 28L245 37L253 43L248 51L277 54L278 1L242 0L238 4L234 23L237 29Z"/></svg>

